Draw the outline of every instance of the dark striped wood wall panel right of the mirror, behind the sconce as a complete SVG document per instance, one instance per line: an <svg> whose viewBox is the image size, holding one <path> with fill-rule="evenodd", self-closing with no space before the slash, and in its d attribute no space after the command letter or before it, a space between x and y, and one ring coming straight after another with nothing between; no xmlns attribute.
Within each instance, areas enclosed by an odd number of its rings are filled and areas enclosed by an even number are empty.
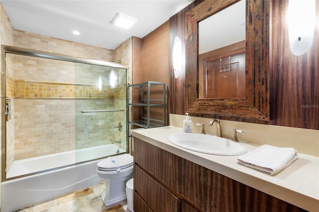
<svg viewBox="0 0 319 212"><path fill-rule="evenodd" d="M292 54L289 47L288 2L273 2L271 124L319 129L319 1L314 42L301 56Z"/></svg>

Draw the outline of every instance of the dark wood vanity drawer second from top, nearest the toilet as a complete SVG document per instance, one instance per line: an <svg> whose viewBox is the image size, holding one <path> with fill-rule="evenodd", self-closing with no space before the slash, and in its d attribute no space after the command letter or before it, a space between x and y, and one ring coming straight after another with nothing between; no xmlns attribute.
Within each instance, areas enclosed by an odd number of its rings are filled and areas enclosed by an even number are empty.
<svg viewBox="0 0 319 212"><path fill-rule="evenodd" d="M140 167L134 167L134 187L141 198L156 212L177 212L179 199L162 187ZM135 208L136 211L142 211Z"/></svg>

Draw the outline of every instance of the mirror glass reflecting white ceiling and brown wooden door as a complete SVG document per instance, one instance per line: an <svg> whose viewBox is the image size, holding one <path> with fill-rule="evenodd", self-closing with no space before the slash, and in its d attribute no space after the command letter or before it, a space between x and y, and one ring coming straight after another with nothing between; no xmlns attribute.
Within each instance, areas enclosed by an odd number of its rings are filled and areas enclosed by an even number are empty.
<svg viewBox="0 0 319 212"><path fill-rule="evenodd" d="M245 97L245 0L198 22L199 98Z"/></svg>

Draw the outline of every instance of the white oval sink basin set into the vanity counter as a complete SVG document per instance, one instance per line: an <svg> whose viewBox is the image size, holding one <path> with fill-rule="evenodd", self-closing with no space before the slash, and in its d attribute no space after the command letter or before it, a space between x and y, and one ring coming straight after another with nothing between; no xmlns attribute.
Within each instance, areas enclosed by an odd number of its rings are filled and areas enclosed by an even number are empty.
<svg viewBox="0 0 319 212"><path fill-rule="evenodd" d="M247 152L242 145L214 135L174 133L167 139L181 148L211 155L242 155Z"/></svg>

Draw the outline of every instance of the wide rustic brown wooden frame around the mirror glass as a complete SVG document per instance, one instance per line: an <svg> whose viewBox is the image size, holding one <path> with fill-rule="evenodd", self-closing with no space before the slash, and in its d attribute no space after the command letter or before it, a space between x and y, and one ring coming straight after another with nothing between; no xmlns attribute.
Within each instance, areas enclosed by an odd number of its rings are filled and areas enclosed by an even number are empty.
<svg viewBox="0 0 319 212"><path fill-rule="evenodd" d="M185 110L192 116L263 123L270 120L272 1L246 1L245 97L199 98L198 22L238 1L205 0L186 13Z"/></svg>

